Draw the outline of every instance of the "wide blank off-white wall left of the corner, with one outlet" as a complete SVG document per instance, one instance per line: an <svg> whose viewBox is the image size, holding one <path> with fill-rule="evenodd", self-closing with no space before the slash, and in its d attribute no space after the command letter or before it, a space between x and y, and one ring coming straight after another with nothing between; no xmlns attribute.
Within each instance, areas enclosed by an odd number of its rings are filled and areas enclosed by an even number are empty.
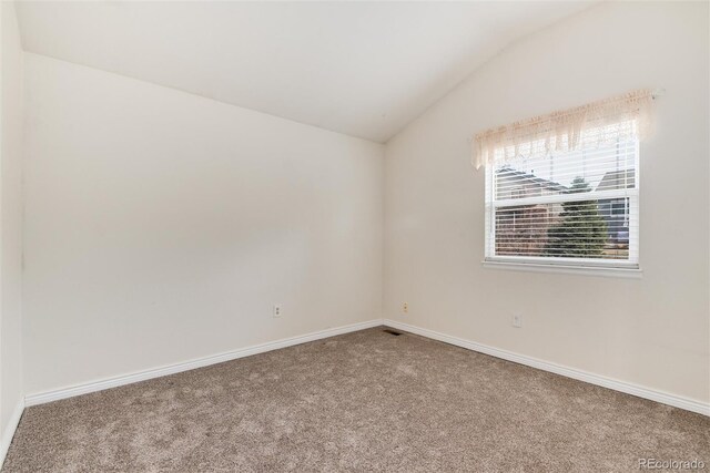
<svg viewBox="0 0 710 473"><path fill-rule="evenodd" d="M382 145L34 54L26 88L28 394L381 317Z"/></svg>

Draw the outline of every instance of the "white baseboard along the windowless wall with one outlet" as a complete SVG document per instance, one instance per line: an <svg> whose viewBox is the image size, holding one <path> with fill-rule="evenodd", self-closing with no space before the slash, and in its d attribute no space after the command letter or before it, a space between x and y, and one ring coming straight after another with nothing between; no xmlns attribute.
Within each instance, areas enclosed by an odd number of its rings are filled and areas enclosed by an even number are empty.
<svg viewBox="0 0 710 473"><path fill-rule="evenodd" d="M123 374L113 378L106 378L99 381L92 381L84 384L61 388L58 390L29 394L24 397L27 407L44 404L47 402L59 401L60 399L73 398L74 395L88 394L90 392L102 391L104 389L116 388L119 385L131 384L139 381L145 381L153 378L160 378L168 374L174 374L182 371L194 370L210 364L222 363L224 361L235 360L237 358L251 357L252 354L263 353L266 351L278 350L280 348L292 347L294 345L306 343L308 341L321 340L323 338L334 337L336 335L348 333L382 325L382 319L368 320L366 322L352 323L343 327L335 327L315 332L285 338L282 340L270 341L266 343L254 345L252 347L241 348L224 353L213 354L210 357L197 358L182 363L170 364L166 367L154 368L151 370L139 371L135 373Z"/></svg>

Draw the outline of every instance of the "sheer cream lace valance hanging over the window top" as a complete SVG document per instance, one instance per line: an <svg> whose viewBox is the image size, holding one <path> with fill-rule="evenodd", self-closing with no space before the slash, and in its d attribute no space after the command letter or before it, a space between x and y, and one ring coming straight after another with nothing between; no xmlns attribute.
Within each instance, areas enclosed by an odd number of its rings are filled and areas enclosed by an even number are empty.
<svg viewBox="0 0 710 473"><path fill-rule="evenodd" d="M542 157L552 151L597 147L619 138L642 138L650 131L652 100L651 91L640 90L487 130L473 140L473 164L478 169L494 161Z"/></svg>

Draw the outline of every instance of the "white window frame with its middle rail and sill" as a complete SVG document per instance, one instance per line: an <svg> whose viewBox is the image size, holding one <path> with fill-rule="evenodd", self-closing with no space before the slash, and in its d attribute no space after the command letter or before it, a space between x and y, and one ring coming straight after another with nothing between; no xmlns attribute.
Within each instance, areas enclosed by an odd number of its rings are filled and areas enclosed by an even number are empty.
<svg viewBox="0 0 710 473"><path fill-rule="evenodd" d="M640 143L636 140L635 146L635 186L633 188L623 189L610 189L601 191L594 194L590 198L588 193L579 194L565 194L565 195L544 195L538 197L511 198L495 200L495 167L486 166L486 183L485 183L485 257L483 266L494 269L514 269L523 271L536 271L536 273L561 273L561 274L579 274L579 275L596 275L596 276L612 276L612 277L630 277L640 278L640 235L639 235L639 219L640 219ZM592 259L592 258L566 258L566 257L552 257L552 256L511 256L511 255L491 255L495 253L496 241L496 225L495 215L496 208L521 205L523 200L527 204L552 204L561 202L575 202L575 200L590 200L599 198L629 198L629 260L618 259ZM636 208L636 212L632 209Z"/></svg>

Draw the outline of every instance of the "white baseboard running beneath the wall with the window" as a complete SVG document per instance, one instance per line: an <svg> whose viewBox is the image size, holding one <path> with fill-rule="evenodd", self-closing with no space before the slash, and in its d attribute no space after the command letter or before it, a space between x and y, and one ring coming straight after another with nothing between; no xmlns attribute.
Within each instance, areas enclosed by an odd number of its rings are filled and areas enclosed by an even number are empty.
<svg viewBox="0 0 710 473"><path fill-rule="evenodd" d="M574 368L567 368L560 364L551 363L549 361L538 360L537 358L526 357L524 354L514 353L511 351L488 347L486 345L476 343L474 341L464 340L464 339L452 337L445 333L439 333L434 330L423 329L423 328L410 326L409 323L404 323L396 320L384 319L383 323L385 326L388 326L398 330L408 331L412 333L419 335L422 337L455 345L457 347L466 348L468 350L477 351L479 353L490 354L491 357L501 358L504 360L514 361L516 363L537 368L539 370L549 371L556 374L561 374L567 378L572 378L579 381L588 382L590 384L613 389L615 391L620 391L627 394L660 402L662 404L672 405L673 408L684 409L687 411L697 412L699 414L710 415L710 403L703 403L703 402L694 401L692 399L683 398L680 395L669 394L662 391L656 391L656 390L652 390L642 385L633 384L630 382L619 381L612 378L607 378L604 376L577 370Z"/></svg>

